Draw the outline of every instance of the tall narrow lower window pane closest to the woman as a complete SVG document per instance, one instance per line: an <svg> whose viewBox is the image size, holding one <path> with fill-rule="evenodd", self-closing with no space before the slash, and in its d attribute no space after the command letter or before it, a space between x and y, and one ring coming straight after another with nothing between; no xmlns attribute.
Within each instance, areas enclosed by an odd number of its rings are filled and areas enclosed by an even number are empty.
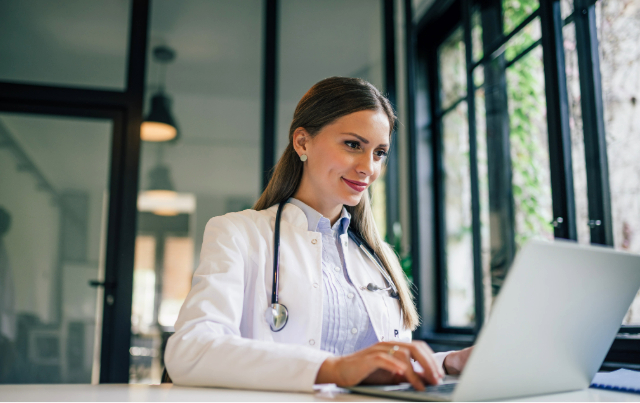
<svg viewBox="0 0 640 403"><path fill-rule="evenodd" d="M475 320L467 103L442 119L449 326Z"/></svg>

